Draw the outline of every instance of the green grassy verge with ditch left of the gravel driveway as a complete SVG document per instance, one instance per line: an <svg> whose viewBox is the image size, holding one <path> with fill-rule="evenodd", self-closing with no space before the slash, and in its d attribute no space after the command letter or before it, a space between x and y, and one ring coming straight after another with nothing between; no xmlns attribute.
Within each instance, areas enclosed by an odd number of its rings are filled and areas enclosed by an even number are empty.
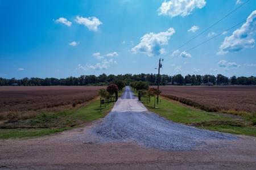
<svg viewBox="0 0 256 170"><path fill-rule="evenodd" d="M0 129L0 139L39 137L76 128L85 122L104 117L113 105L110 103L106 108L100 108L100 99L96 99L79 109L42 113L35 118L5 124Z"/></svg>

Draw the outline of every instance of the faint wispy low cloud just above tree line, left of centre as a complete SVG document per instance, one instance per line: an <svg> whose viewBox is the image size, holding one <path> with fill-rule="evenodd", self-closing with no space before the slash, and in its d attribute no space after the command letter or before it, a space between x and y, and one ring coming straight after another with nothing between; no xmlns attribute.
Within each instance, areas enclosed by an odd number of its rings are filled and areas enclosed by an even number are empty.
<svg viewBox="0 0 256 170"><path fill-rule="evenodd" d="M116 61L114 61L113 58L110 58L109 60L104 59L104 61L98 62L95 65L90 65L88 63L86 63L85 66L82 65L78 65L77 69L78 70L105 70L108 69L110 67L110 65L112 65L113 63L117 63Z"/></svg>

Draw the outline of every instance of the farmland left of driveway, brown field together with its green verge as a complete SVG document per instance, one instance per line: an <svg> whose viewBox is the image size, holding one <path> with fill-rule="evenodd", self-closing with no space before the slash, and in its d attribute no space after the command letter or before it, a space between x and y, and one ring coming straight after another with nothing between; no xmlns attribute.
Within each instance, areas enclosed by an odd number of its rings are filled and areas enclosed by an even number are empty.
<svg viewBox="0 0 256 170"><path fill-rule="evenodd" d="M104 87L0 87L0 139L53 134L104 117L114 103L100 108Z"/></svg>

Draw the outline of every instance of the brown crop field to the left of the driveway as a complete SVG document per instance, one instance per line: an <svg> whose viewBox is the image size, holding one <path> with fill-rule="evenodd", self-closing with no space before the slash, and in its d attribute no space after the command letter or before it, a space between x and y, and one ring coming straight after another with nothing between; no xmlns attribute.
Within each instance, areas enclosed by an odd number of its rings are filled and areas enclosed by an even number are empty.
<svg viewBox="0 0 256 170"><path fill-rule="evenodd" d="M41 112L71 109L98 95L103 87L96 86L38 86L0 87L0 120L30 118Z"/></svg>

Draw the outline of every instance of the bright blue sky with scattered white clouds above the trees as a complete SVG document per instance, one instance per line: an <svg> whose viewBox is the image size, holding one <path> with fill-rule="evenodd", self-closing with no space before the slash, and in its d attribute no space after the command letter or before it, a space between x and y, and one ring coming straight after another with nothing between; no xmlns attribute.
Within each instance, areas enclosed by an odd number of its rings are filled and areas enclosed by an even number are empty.
<svg viewBox="0 0 256 170"><path fill-rule="evenodd" d="M163 74L256 76L254 0L176 50L245 1L0 0L0 76L156 73L159 58Z"/></svg>

